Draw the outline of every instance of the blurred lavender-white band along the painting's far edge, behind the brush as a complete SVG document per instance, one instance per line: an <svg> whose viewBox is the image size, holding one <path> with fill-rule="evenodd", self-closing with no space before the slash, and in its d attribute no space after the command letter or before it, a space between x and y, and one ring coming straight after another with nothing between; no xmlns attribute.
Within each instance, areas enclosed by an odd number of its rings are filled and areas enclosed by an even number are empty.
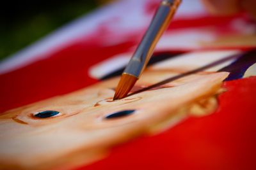
<svg viewBox="0 0 256 170"><path fill-rule="evenodd" d="M158 2L159 0L151 0L150 2L152 1ZM90 15L78 18L3 60L0 63L0 74L49 57L49 54L65 48L81 36L86 38L86 35L90 35L97 30L99 24L108 22L113 17L122 19L108 24L109 36L111 37L112 32L113 34L120 34L119 38L124 37L124 39L107 39L102 43L106 45L120 43L120 41L125 40L127 32L141 31L147 27L152 18L150 15L145 15L144 10L147 3L148 0L120 0L100 8ZM193 15L191 15L192 13ZM204 8L199 0L183 1L175 18L196 17L202 13L204 13Z"/></svg>

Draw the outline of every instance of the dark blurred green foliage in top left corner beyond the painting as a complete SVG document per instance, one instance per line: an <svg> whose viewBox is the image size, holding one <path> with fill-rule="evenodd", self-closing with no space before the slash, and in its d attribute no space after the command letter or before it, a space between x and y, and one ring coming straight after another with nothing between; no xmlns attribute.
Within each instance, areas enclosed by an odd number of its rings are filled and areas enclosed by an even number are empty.
<svg viewBox="0 0 256 170"><path fill-rule="evenodd" d="M0 60L30 45L102 1L8 1L0 11Z"/></svg>

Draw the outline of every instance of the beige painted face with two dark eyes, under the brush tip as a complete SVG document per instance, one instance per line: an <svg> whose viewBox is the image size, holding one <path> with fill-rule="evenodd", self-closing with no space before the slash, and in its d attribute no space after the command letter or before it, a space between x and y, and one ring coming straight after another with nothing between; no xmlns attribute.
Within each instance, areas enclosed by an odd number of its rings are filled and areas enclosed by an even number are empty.
<svg viewBox="0 0 256 170"><path fill-rule="evenodd" d="M147 87L179 73L143 73L136 87ZM228 73L198 73L119 101L111 101L118 78L6 111L0 115L0 167L2 169L69 169L103 157L121 142L177 120L176 115L218 92ZM110 100L110 101L109 101ZM39 111L60 115L36 118ZM136 110L127 117L106 119L116 111ZM178 122L181 121L178 119ZM176 121L177 122L177 121ZM165 127L166 128L166 127ZM159 130L158 130L159 131Z"/></svg>

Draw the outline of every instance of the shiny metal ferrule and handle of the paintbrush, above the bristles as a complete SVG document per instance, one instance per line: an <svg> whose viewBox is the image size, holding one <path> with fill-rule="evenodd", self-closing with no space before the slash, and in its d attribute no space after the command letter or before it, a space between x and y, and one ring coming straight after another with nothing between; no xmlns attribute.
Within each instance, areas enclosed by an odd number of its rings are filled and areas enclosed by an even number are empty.
<svg viewBox="0 0 256 170"><path fill-rule="evenodd" d="M181 0L164 0L159 5L140 45L132 55L129 64L125 67L124 74L140 77L148 64L157 42L173 18Z"/></svg>

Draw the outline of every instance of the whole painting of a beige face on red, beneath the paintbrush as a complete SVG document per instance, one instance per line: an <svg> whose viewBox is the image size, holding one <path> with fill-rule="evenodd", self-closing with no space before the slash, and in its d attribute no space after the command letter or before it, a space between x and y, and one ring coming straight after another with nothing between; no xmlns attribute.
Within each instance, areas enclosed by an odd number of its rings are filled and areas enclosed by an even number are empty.
<svg viewBox="0 0 256 170"><path fill-rule="evenodd" d="M30 48L34 52L27 49L29 53L18 53L13 66L8 61L1 64L1 165L38 169L61 165L67 169L255 169L255 24L243 14L211 17L198 9L189 11L193 15L184 12L188 10L178 11L159 42L152 65L133 90L139 92L127 97L131 101L108 102L118 79L106 78L122 73L157 5L157 1L140 2L134 8L134 2L129 1L125 8L140 16L130 16L141 21L136 27L127 24L131 18L124 9L124 16L119 15L123 1L108 7L109 11L118 8L116 13L97 11L109 13L97 18L97 23L87 18L92 26L84 25L82 28L88 28L84 32L77 29L79 37L51 49L39 42L40 48ZM19 58L24 53L26 57ZM20 59L29 62L24 65ZM143 91L157 83L157 87ZM211 87L218 88L212 91ZM185 116L177 114L180 108L186 108ZM35 117L49 110L59 113L52 118ZM123 110L136 111L106 119ZM174 117L169 116L176 114L179 117L171 121ZM137 120L139 115L145 117ZM90 129L99 136L83 136ZM84 143L85 139L92 139L93 146ZM37 153L47 157L33 157ZM54 161L72 154L76 160Z"/></svg>

